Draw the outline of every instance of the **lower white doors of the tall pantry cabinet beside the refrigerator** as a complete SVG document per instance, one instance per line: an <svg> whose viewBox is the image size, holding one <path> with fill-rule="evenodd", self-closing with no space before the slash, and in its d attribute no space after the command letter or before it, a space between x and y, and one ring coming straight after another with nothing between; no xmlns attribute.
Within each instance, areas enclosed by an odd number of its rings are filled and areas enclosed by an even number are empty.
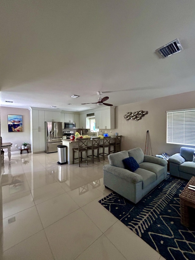
<svg viewBox="0 0 195 260"><path fill-rule="evenodd" d="M31 150L33 153L45 151L45 130L33 129L32 130Z"/></svg>

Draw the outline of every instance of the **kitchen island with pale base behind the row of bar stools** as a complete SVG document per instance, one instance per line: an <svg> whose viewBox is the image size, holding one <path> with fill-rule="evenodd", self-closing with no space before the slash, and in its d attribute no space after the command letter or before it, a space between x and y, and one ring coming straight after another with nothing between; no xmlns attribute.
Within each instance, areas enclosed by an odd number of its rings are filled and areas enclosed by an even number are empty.
<svg viewBox="0 0 195 260"><path fill-rule="evenodd" d="M111 137L110 142L114 142L115 137ZM73 148L78 147L78 142L76 140L71 141L70 139L62 140L62 144L66 145L66 161L68 164L73 164ZM92 143L92 140L88 140L88 145L90 146ZM103 139L100 139L100 144L103 144ZM108 153L108 148L105 148L106 153ZM103 152L103 148L100 147L100 153ZM91 155L91 151L88 150L87 155ZM100 155L101 158L101 155ZM89 158L90 160L90 158Z"/></svg>

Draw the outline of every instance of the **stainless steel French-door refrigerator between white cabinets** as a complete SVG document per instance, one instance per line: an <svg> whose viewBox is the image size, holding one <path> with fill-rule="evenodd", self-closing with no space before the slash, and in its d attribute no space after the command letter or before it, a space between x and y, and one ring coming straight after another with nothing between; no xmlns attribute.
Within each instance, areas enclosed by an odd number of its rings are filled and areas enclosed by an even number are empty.
<svg viewBox="0 0 195 260"><path fill-rule="evenodd" d="M60 144L62 144L62 122L45 122L45 152L57 152L57 146Z"/></svg>

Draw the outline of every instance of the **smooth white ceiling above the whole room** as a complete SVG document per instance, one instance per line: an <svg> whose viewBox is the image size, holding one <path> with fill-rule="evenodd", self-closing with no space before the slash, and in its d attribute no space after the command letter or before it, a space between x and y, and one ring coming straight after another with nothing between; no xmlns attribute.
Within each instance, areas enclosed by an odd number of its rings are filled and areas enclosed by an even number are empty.
<svg viewBox="0 0 195 260"><path fill-rule="evenodd" d="M83 111L98 91L117 106L195 90L194 0L1 0L0 23L2 106ZM184 50L159 58L176 38Z"/></svg>

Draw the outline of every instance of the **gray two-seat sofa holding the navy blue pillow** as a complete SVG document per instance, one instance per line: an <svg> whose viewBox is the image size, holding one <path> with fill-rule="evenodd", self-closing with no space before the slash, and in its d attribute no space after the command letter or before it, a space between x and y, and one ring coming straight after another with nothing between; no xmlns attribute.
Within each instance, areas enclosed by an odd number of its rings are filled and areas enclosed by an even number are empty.
<svg viewBox="0 0 195 260"><path fill-rule="evenodd" d="M139 167L135 172L125 169L123 159L133 157ZM167 177L167 161L144 155L141 148L108 155L109 165L103 166L104 185L133 203Z"/></svg>

